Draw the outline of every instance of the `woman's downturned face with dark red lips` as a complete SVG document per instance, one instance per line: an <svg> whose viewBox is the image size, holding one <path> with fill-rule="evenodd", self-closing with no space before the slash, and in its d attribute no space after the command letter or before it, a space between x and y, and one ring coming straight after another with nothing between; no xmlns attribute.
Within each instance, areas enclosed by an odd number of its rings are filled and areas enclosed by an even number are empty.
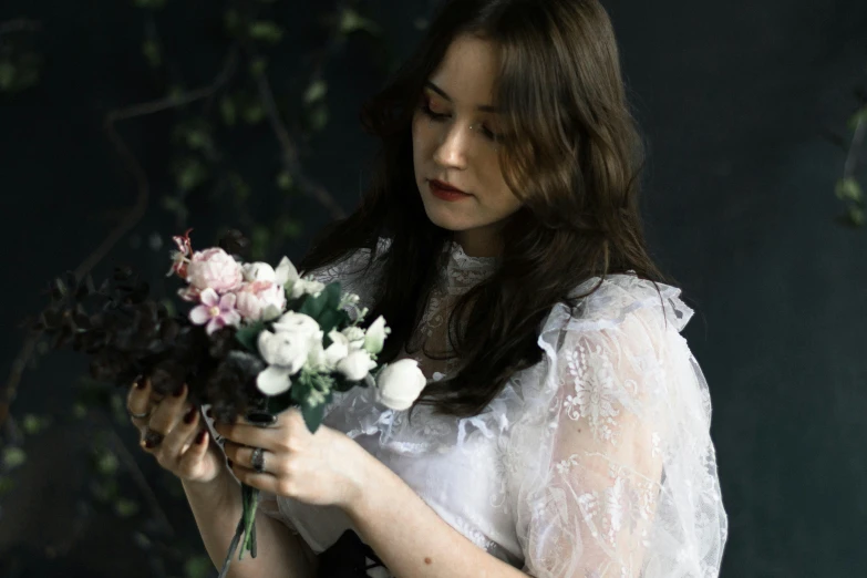
<svg viewBox="0 0 867 578"><path fill-rule="evenodd" d="M522 205L499 167L499 115L486 110L495 104L496 71L494 44L468 35L456 38L429 79L412 123L415 182L427 218L455 231L455 240L474 257L500 254L499 228ZM469 196L437 198L431 189L433 179Z"/></svg>

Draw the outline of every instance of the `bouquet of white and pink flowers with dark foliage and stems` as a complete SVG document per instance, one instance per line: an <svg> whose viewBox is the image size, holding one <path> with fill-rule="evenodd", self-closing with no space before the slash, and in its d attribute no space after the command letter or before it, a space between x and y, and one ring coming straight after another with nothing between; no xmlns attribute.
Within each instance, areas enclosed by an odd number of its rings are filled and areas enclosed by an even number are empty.
<svg viewBox="0 0 867 578"><path fill-rule="evenodd" d="M146 282L117 269L99 289L90 277L55 280L37 328L54 348L90 354L95 379L128 386L148 376L164 395L186 383L190 403L210 404L225 422L245 415L267 426L297 406L316 433L336 391L373 386L376 401L394 410L419 396L425 379L415 362L376 363L391 330L382 317L359 327L368 309L358 308L357 295L343 293L339 282L300 278L286 257L276 268L245 262L249 241L238 231L202 251L193 250L189 233L173 238L168 271L185 281L178 295L186 311L169 313L148 297ZM220 577L241 535L239 559L247 550L256 557L258 489L242 484L241 495L244 513Z"/></svg>

